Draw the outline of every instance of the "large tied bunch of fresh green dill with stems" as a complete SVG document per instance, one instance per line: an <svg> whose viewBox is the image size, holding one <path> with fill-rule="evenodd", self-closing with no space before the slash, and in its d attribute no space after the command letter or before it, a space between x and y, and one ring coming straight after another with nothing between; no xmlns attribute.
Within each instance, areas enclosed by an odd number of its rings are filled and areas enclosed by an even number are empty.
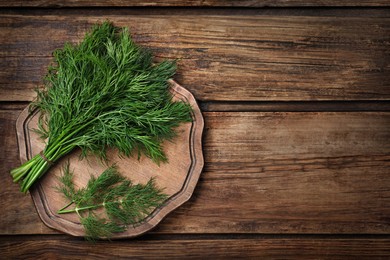
<svg viewBox="0 0 390 260"><path fill-rule="evenodd" d="M126 28L109 22L96 25L80 44L65 44L54 58L31 106L41 112L36 131L47 138L46 147L11 171L22 192L76 147L82 157L104 160L107 148L114 147L124 156L136 152L156 163L167 160L162 141L191 121L191 107L173 102L168 91L174 62L154 64Z"/></svg>

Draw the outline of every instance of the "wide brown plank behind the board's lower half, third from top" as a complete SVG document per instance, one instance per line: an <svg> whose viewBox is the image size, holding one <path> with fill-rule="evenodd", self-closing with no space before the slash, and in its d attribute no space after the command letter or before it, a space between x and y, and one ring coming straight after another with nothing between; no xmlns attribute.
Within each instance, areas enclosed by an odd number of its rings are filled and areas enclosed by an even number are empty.
<svg viewBox="0 0 390 260"><path fill-rule="evenodd" d="M51 233L8 175L18 164L17 114L0 111L7 140L0 154L0 234ZM390 232L390 113L204 116L206 164L195 193L154 232Z"/></svg>

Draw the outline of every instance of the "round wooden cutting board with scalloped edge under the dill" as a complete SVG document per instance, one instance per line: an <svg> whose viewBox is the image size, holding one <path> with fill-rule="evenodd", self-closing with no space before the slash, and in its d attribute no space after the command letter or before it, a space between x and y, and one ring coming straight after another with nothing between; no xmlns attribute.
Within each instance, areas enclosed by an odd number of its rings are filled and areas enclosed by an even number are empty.
<svg viewBox="0 0 390 260"><path fill-rule="evenodd" d="M191 104L193 122L182 124L177 128L178 136L163 144L168 157L167 163L156 165L150 159L142 156L140 160L134 157L118 157L115 150L108 152L110 164L116 164L119 172L131 179L133 183L146 183L151 177L156 185L163 188L169 195L167 201L145 219L142 223L130 226L127 231L115 234L113 238L135 237L154 228L164 217L186 202L192 195L203 169L202 132L204 127L201 111L193 95L171 81L171 92L175 100ZM44 149L44 140L32 131L36 128L38 111L29 112L28 107L20 114L17 122L17 136L21 162L31 159ZM57 211L68 202L54 187L59 185L58 176L68 160L74 170L76 187L84 187L90 175L98 176L106 168L95 157L79 159L80 150L60 159L34 187L30 189L37 212L42 221L49 227L74 236L84 236L84 229L76 214L57 214Z"/></svg>

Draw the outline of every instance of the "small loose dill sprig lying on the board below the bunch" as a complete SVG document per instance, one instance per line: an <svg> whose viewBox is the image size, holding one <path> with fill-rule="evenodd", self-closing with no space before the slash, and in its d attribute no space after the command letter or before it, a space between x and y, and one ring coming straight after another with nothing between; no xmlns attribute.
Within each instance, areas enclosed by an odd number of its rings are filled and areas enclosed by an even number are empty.
<svg viewBox="0 0 390 260"><path fill-rule="evenodd" d="M126 231L128 225L142 222L168 198L156 187L154 179L146 185L133 185L115 167L108 168L98 178L92 176L85 188L77 190L68 163L59 180L57 189L70 203L58 213L77 213L88 240L110 238L114 233ZM72 204L74 208L67 209ZM104 209L104 215L96 213L98 209Z"/></svg>

